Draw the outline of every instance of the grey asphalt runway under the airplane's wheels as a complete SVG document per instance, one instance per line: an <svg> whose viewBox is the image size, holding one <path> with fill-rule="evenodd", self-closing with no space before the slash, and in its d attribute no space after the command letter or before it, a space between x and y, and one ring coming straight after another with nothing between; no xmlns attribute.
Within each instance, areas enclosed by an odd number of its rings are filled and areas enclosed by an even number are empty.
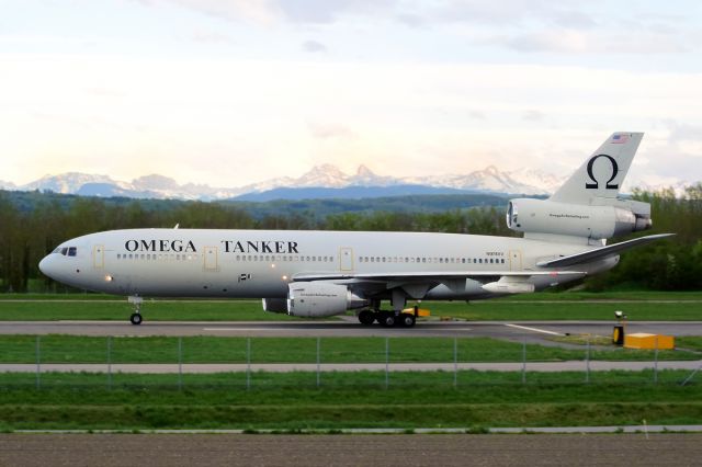
<svg viewBox="0 0 702 467"><path fill-rule="evenodd" d="M486 337L530 342L568 334L611 335L614 321L420 321L414 328L365 327L354 317L336 321L1 321L0 334L219 335L219 337ZM702 335L702 321L636 321L626 332Z"/></svg>

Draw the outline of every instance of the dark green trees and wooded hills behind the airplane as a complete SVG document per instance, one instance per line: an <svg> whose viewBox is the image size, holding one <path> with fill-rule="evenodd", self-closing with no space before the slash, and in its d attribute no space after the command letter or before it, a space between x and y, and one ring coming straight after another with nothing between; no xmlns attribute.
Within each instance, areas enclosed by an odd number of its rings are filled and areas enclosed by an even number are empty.
<svg viewBox="0 0 702 467"><path fill-rule="evenodd" d="M629 251L591 288L631 285L659 289L702 287L702 185L635 192L652 204L654 229L671 240ZM148 227L437 231L514 236L505 225L507 200L494 195L416 195L370 200L183 202L97 198L0 191L0 292L27 291L42 276L39 260L60 242L89 232ZM623 239L616 239L623 240Z"/></svg>

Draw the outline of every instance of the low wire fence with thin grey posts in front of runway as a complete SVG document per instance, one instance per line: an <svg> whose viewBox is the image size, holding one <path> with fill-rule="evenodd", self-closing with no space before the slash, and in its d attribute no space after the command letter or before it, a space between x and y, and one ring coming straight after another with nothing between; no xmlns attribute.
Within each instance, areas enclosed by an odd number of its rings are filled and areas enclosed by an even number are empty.
<svg viewBox="0 0 702 467"><path fill-rule="evenodd" d="M700 355L482 338L0 337L0 387L689 385Z"/></svg>

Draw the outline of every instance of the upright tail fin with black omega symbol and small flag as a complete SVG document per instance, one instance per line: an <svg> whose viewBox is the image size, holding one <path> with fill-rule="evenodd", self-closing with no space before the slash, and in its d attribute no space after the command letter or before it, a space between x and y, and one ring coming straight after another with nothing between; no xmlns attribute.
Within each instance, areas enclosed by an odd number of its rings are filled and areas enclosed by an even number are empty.
<svg viewBox="0 0 702 467"><path fill-rule="evenodd" d="M643 137L643 133L612 134L550 200L573 204L608 204L615 200Z"/></svg>

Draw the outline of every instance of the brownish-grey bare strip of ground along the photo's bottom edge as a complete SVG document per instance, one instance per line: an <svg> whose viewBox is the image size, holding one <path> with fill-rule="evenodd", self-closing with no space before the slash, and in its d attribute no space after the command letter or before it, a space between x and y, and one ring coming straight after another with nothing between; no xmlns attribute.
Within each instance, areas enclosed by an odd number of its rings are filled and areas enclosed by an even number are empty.
<svg viewBox="0 0 702 467"><path fill-rule="evenodd" d="M701 434L0 434L8 466L693 466Z"/></svg>

